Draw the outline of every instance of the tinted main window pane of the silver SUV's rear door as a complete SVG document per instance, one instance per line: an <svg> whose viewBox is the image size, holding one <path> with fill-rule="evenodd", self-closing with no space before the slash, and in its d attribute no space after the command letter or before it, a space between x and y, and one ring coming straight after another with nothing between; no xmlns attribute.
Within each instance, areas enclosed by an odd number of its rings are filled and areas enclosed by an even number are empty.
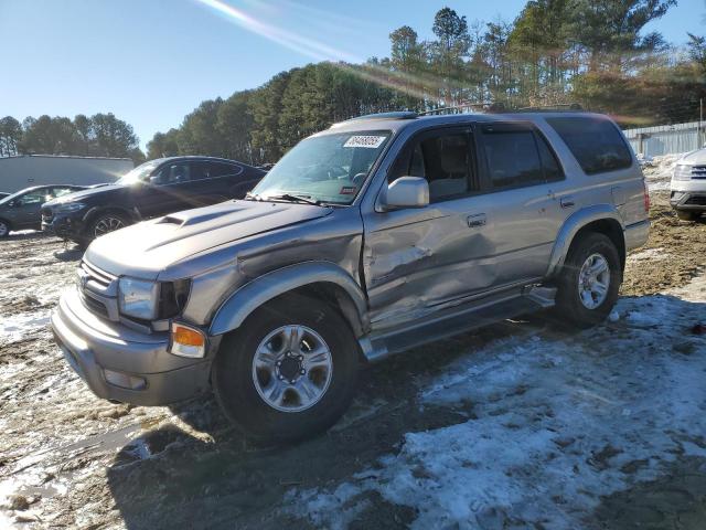
<svg viewBox="0 0 706 530"><path fill-rule="evenodd" d="M486 127L483 129L483 149L494 189L545 181L532 130Z"/></svg>

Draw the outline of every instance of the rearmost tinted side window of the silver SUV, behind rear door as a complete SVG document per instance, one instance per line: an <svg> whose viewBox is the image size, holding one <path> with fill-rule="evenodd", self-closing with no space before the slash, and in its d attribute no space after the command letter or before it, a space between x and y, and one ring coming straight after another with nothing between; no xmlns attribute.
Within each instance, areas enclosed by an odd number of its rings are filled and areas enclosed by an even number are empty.
<svg viewBox="0 0 706 530"><path fill-rule="evenodd" d="M625 140L612 121L598 117L547 118L587 174L632 166Z"/></svg>

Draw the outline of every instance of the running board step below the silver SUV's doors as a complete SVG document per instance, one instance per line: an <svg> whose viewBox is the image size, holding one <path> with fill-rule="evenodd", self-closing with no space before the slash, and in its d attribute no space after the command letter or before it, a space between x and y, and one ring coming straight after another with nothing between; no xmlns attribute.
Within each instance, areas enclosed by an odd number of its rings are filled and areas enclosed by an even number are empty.
<svg viewBox="0 0 706 530"><path fill-rule="evenodd" d="M422 319L377 333L373 331L360 339L363 353L370 362L375 362L428 342L448 339L509 318L547 309L554 306L556 289L527 286L520 294L516 293L502 299L493 298L484 304L477 301L472 305L446 309L438 315L427 315Z"/></svg>

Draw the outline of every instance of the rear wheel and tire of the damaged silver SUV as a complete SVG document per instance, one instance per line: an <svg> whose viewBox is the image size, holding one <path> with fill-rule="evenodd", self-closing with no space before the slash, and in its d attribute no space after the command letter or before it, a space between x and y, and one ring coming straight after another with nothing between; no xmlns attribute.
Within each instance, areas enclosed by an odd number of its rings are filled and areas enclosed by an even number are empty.
<svg viewBox="0 0 706 530"><path fill-rule="evenodd" d="M602 262L601 262L602 261ZM590 274L591 267L598 271ZM582 278L582 279L581 279ZM569 248L557 282L555 316L579 328L602 322L618 300L622 267L618 250L603 234L588 233ZM598 286L605 294L600 294ZM590 287L595 287L592 292Z"/></svg>

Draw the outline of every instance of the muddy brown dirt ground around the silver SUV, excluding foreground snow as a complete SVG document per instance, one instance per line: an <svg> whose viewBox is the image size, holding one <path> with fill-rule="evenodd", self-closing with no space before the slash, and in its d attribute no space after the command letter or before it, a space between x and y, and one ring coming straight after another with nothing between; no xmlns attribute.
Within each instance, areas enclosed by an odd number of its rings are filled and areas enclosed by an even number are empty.
<svg viewBox="0 0 706 530"><path fill-rule="evenodd" d="M676 220L659 193L652 222L648 245L629 257L624 296L682 287L706 264L706 223ZM536 317L397 356L363 373L353 407L325 435L289 448L254 447L211 399L146 409L93 396L46 327L81 252L38 234L13 235L0 250L1 528L325 527L292 506L298 491L374 469L400 451L405 433L473 417L478 403L419 406L419 389L449 363L504 337L573 340ZM698 444L706 448L703 438ZM406 528L417 517L408 506L366 496L349 528ZM485 528L526 528L494 524ZM654 480L600 499L585 526L706 528L706 457L676 455Z"/></svg>

